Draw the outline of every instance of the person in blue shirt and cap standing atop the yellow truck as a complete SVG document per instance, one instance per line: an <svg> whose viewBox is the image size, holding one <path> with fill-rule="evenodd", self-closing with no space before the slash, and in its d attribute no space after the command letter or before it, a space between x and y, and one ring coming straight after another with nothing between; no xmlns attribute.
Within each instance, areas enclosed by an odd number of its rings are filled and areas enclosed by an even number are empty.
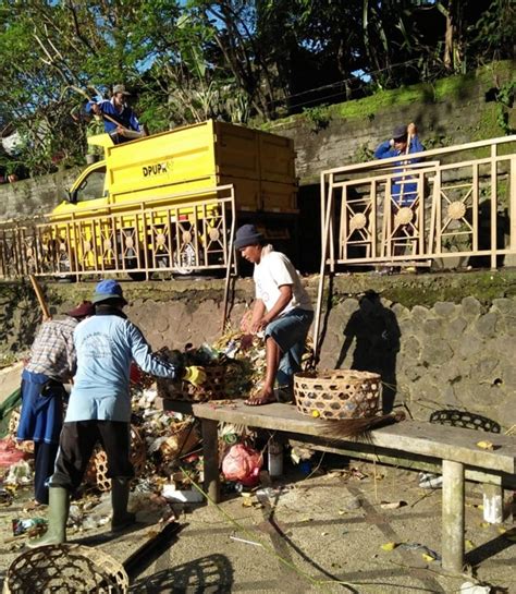
<svg viewBox="0 0 516 594"><path fill-rule="evenodd" d="M109 117L103 118L103 126L105 132L113 138L114 144L145 136L144 126L126 104L126 97L130 95L124 85L114 85L110 100L88 101L86 106L86 111L93 111L96 116L106 114ZM112 120L115 120L116 123Z"/></svg>

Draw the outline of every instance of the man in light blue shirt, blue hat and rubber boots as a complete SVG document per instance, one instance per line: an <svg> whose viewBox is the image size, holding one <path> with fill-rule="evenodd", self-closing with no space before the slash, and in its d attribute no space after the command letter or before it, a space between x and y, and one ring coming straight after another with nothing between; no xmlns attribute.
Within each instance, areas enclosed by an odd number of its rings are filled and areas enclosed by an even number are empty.
<svg viewBox="0 0 516 594"><path fill-rule="evenodd" d="M127 304L122 287L113 279L100 281L93 298L95 316L74 331L77 373L59 440L54 473L50 478L48 531L29 546L65 542L70 495L81 485L98 441L108 457L113 516L111 531L135 521L127 512L130 481L131 391L130 367L134 360L144 372L198 386L206 380L202 367L180 368L152 354L142 331L123 313Z"/></svg>

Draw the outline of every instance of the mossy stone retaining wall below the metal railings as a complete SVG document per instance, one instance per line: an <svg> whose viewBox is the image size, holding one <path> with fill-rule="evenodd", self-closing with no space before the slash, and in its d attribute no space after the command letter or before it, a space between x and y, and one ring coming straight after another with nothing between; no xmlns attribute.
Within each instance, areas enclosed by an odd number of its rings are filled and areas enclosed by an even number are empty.
<svg viewBox="0 0 516 594"><path fill-rule="evenodd" d="M314 302L317 284L306 279ZM44 289L60 313L90 296L94 284ZM221 335L222 281L126 282L124 292L130 318L153 349L198 347ZM516 423L516 272L349 275L335 278L328 294L321 367L380 373L386 408L405 402L416 419L457 408L505 428ZM239 280L234 326L251 302L253 281ZM0 283L0 353L20 357L40 317L32 289Z"/></svg>

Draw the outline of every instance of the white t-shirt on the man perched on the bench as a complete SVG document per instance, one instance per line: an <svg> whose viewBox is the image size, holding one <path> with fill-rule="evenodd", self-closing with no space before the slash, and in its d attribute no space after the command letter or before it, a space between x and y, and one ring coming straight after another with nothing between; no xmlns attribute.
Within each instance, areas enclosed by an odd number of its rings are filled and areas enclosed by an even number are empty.
<svg viewBox="0 0 516 594"><path fill-rule="evenodd" d="M292 262L281 252L266 252L261 254L259 264L255 264L253 275L256 287L256 298L261 299L268 312L272 310L280 298L280 287L292 286L292 300L280 315L284 315L295 307L308 310L312 306L310 298L300 282L299 275Z"/></svg>

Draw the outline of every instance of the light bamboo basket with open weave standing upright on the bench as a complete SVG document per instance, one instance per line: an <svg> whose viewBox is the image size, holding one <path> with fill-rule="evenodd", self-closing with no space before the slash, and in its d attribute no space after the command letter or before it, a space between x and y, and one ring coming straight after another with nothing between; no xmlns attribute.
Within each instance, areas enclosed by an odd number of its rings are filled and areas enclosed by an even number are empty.
<svg viewBox="0 0 516 594"><path fill-rule="evenodd" d="M373 416L379 407L381 377L369 372L325 369L294 376L296 407L322 419Z"/></svg>

